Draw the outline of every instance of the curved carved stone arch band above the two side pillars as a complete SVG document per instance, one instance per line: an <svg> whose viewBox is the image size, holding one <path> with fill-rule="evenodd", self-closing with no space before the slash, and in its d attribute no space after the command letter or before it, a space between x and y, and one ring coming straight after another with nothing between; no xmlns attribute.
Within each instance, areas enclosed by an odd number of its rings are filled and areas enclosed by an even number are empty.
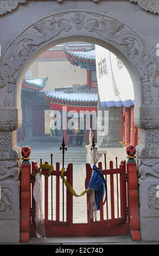
<svg viewBox="0 0 159 256"><path fill-rule="evenodd" d="M155 103L147 87L159 88L158 62L143 35L112 15L70 10L36 21L15 36L4 54L2 52L0 88L7 90L1 106L19 108L15 95L20 93L21 80L29 63L49 45L75 38L106 47L122 59L133 80L137 107ZM13 91L14 96L11 95Z"/></svg>

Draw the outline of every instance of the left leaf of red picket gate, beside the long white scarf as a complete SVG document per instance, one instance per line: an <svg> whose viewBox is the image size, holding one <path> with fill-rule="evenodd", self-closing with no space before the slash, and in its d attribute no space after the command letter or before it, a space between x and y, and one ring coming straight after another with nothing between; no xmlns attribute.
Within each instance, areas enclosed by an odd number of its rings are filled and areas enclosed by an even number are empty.
<svg viewBox="0 0 159 256"><path fill-rule="evenodd" d="M32 162L32 174L34 173L34 175L39 172L39 170L37 169L37 162ZM43 170L42 169L42 173L43 174L48 174L48 170ZM32 178L32 212L33 212L33 216L32 216L32 220L31 222L34 223L34 218L35 218L35 200L33 197L33 187L35 184L35 178ZM55 177L54 181L56 182L56 188L55 188L55 194L53 195L54 200L55 200L55 207L53 209L53 204L50 205L51 209L50 209L50 217L48 215L49 213L49 194L53 193L53 186L52 184L50 185L49 179L52 179L52 176ZM65 200L66 200L66 220L65 221L61 221L60 220L60 199L61 199L61 194L60 194L60 176L61 176L61 171L60 171L60 163L56 163L56 169L53 171L53 173L49 176L49 177L44 177L44 221L52 221L52 224L58 224L58 225L65 225L65 226L69 226L73 223L73 196L71 193L69 193L68 190L66 190L66 195L65 196ZM69 163L67 170L64 172L64 177L66 176L66 180L67 182L73 186L73 164ZM50 193L49 193L50 192ZM63 198L62 198L63 199ZM63 205L62 205L63 207ZM55 212L53 212L53 210ZM55 216L55 220L53 220L53 213ZM65 218L65 216L62 216L62 220Z"/></svg>

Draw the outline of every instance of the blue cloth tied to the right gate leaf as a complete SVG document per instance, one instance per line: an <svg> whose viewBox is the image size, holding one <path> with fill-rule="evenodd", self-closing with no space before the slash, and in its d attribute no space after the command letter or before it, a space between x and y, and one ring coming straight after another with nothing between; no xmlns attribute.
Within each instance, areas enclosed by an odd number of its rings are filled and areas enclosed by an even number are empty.
<svg viewBox="0 0 159 256"><path fill-rule="evenodd" d="M103 199L105 187L104 180L102 179L100 174L96 172L96 170L98 170L101 173L101 175L103 175L103 172L96 166L96 164L93 165L93 169L94 173L92 178L88 181L87 189L93 188L96 197L97 210L99 210L99 201Z"/></svg>

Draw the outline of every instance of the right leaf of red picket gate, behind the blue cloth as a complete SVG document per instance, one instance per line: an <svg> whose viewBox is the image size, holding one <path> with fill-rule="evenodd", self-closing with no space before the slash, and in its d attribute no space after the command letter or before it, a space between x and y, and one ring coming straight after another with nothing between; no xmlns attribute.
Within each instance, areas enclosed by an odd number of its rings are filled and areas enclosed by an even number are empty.
<svg viewBox="0 0 159 256"><path fill-rule="evenodd" d="M100 201L100 218L99 221L109 220L109 223L126 222L127 220L127 190L126 190L126 166L122 161L119 168L113 169L113 162L110 161L110 169L102 169L102 163L98 163L99 169L107 181L107 198L105 206ZM91 178L92 168L86 163L86 180L85 187ZM109 185L109 186L108 186ZM116 193L115 193L116 187ZM115 198L116 197L116 198ZM87 205L90 202L90 195L87 194ZM87 209L87 219L89 222L90 209ZM92 221L93 222L93 221Z"/></svg>

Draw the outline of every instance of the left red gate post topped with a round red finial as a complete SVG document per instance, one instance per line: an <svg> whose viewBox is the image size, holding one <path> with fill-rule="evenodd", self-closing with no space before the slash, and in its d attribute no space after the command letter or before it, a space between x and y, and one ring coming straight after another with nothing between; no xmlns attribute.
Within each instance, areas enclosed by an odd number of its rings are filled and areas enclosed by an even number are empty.
<svg viewBox="0 0 159 256"><path fill-rule="evenodd" d="M21 165L21 242L29 242L31 218L31 166L29 155L31 149L23 147Z"/></svg>

